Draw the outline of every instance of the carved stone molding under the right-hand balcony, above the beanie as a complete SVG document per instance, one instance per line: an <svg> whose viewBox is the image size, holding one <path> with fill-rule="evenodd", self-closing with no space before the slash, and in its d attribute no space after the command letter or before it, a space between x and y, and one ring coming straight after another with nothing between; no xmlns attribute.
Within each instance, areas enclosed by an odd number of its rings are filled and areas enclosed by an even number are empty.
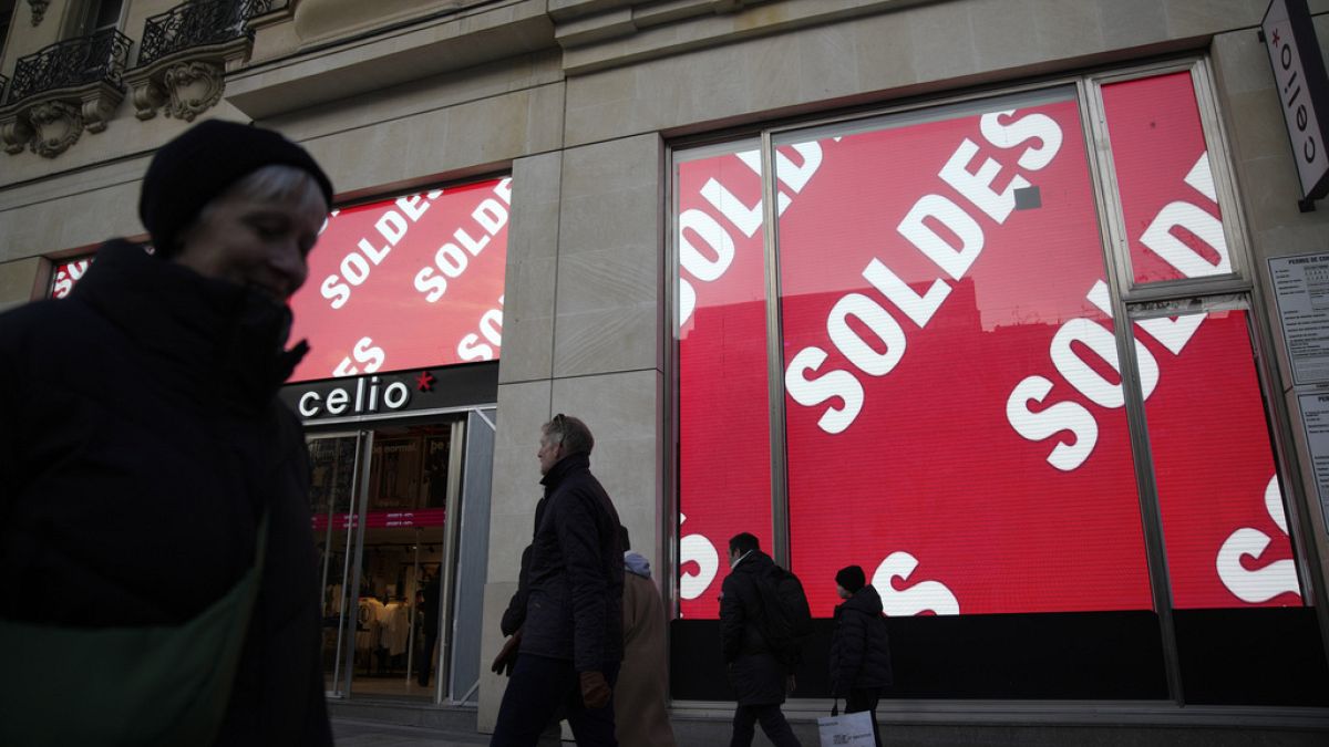
<svg viewBox="0 0 1329 747"><path fill-rule="evenodd" d="M167 117L193 122L194 117L217 105L226 90L226 72L243 65L254 48L249 37L222 44L193 47L125 72L132 92L134 116L152 120L165 110Z"/></svg>

